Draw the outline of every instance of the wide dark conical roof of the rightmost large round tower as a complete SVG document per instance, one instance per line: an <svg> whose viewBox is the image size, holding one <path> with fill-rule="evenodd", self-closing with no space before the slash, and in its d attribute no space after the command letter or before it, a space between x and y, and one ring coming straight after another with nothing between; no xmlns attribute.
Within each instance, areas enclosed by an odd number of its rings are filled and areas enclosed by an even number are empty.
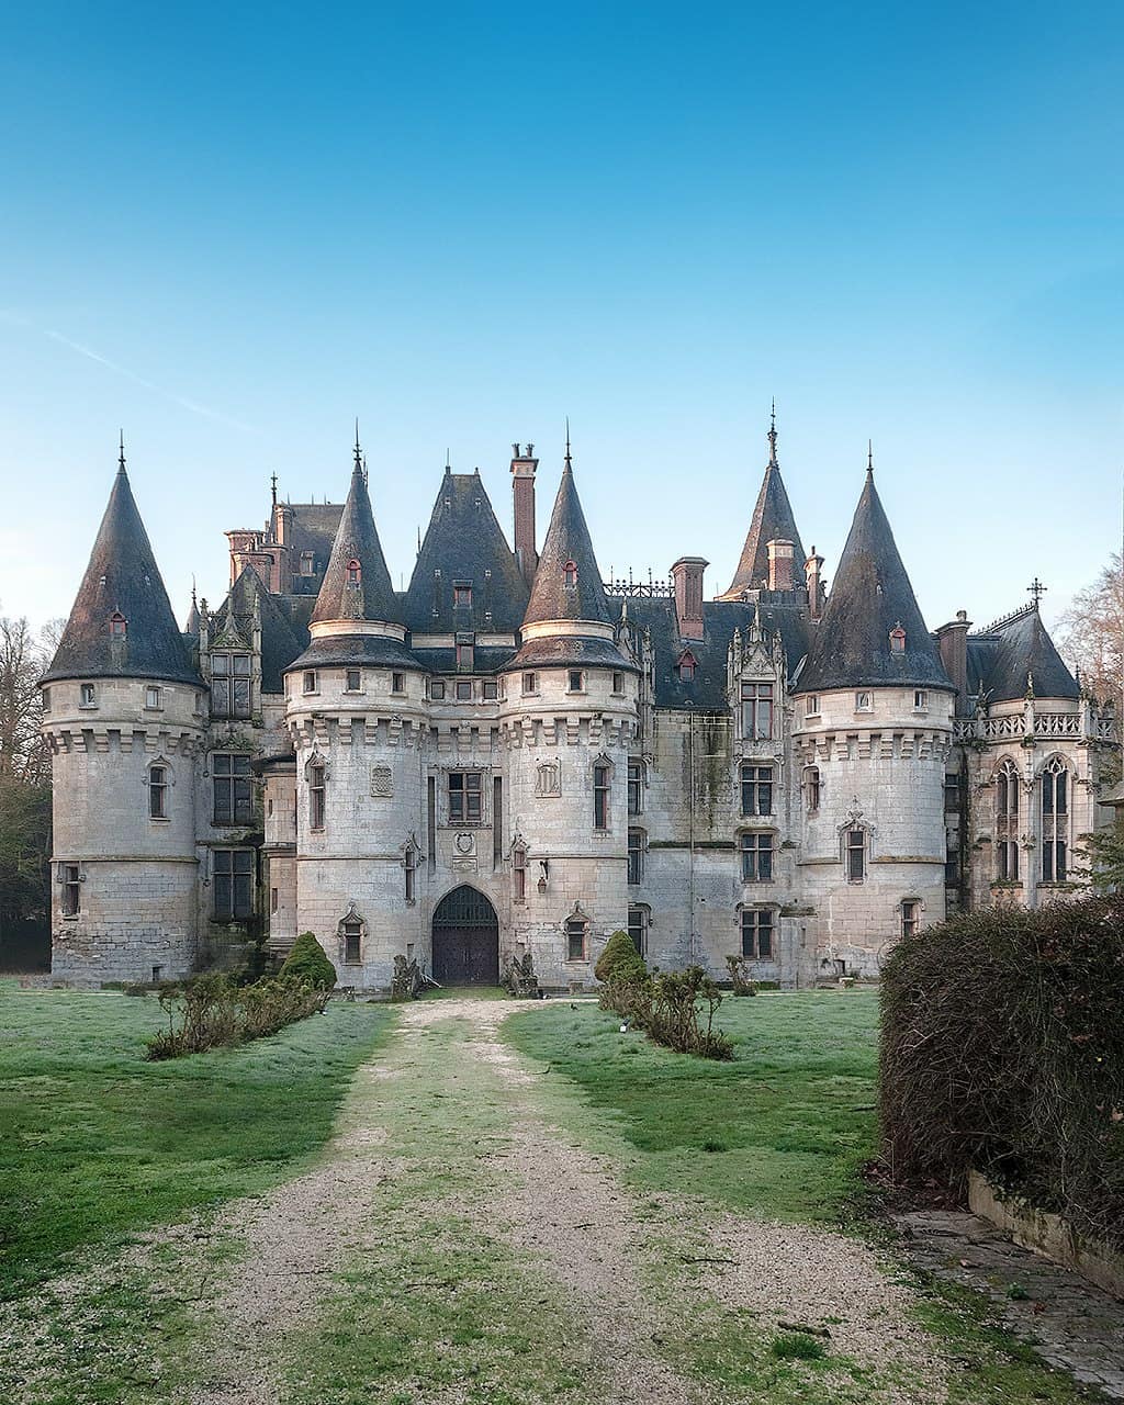
<svg viewBox="0 0 1124 1405"><path fill-rule="evenodd" d="M889 636L899 625L905 648L895 653ZM894 686L953 687L868 471L835 587L794 691Z"/></svg>

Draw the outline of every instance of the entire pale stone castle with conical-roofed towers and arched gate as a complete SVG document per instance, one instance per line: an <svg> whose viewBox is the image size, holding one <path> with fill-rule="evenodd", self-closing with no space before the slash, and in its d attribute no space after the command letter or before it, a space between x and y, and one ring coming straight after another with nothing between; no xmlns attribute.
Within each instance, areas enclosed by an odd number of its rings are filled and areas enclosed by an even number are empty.
<svg viewBox="0 0 1124 1405"><path fill-rule="evenodd" d="M358 440L358 436L357 436ZM358 441L344 504L277 497L228 532L230 590L173 617L124 450L42 680L52 968L185 975L315 932L341 985L396 955L586 985L625 927L651 964L877 976L903 934L1035 906L1099 828L1116 718L1038 613L922 620L868 462L830 592L776 423L728 590L601 577L566 445L541 554L532 445L514 549L445 468L395 592Z"/></svg>

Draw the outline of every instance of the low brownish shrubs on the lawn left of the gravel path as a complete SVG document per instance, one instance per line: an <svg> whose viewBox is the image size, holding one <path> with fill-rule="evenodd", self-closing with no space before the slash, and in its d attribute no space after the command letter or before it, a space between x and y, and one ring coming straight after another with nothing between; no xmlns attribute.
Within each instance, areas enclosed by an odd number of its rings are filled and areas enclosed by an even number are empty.
<svg viewBox="0 0 1124 1405"><path fill-rule="evenodd" d="M160 1006L167 1013L169 1027L149 1040L148 1058L181 1058L277 1034L309 1014L323 1014L327 998L329 991L323 986L295 975L263 976L253 985L236 985L229 976L212 972L181 986L164 986Z"/></svg>

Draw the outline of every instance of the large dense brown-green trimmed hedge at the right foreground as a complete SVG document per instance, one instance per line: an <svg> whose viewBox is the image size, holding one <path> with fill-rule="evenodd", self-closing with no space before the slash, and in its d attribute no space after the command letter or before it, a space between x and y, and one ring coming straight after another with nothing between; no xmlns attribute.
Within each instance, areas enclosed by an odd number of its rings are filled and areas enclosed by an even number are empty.
<svg viewBox="0 0 1124 1405"><path fill-rule="evenodd" d="M882 1156L1124 1248L1124 895L988 908L882 968Z"/></svg>

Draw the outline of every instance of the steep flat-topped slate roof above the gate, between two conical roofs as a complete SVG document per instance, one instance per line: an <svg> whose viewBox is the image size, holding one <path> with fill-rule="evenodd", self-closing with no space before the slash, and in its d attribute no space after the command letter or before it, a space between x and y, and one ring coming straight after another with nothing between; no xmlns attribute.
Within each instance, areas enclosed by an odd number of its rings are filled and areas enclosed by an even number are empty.
<svg viewBox="0 0 1124 1405"><path fill-rule="evenodd" d="M472 587L466 606L454 604L457 584ZM406 592L406 624L414 634L507 634L525 610L527 583L479 472L445 469Z"/></svg>

